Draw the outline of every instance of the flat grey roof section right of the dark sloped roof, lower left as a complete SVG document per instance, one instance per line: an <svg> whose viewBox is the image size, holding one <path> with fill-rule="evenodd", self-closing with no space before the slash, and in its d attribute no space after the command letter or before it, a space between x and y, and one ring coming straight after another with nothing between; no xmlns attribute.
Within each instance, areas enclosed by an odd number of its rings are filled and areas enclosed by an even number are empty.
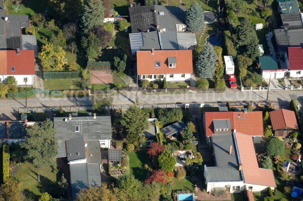
<svg viewBox="0 0 303 201"><path fill-rule="evenodd" d="M102 164L99 140L87 140L85 143L86 163Z"/></svg>

